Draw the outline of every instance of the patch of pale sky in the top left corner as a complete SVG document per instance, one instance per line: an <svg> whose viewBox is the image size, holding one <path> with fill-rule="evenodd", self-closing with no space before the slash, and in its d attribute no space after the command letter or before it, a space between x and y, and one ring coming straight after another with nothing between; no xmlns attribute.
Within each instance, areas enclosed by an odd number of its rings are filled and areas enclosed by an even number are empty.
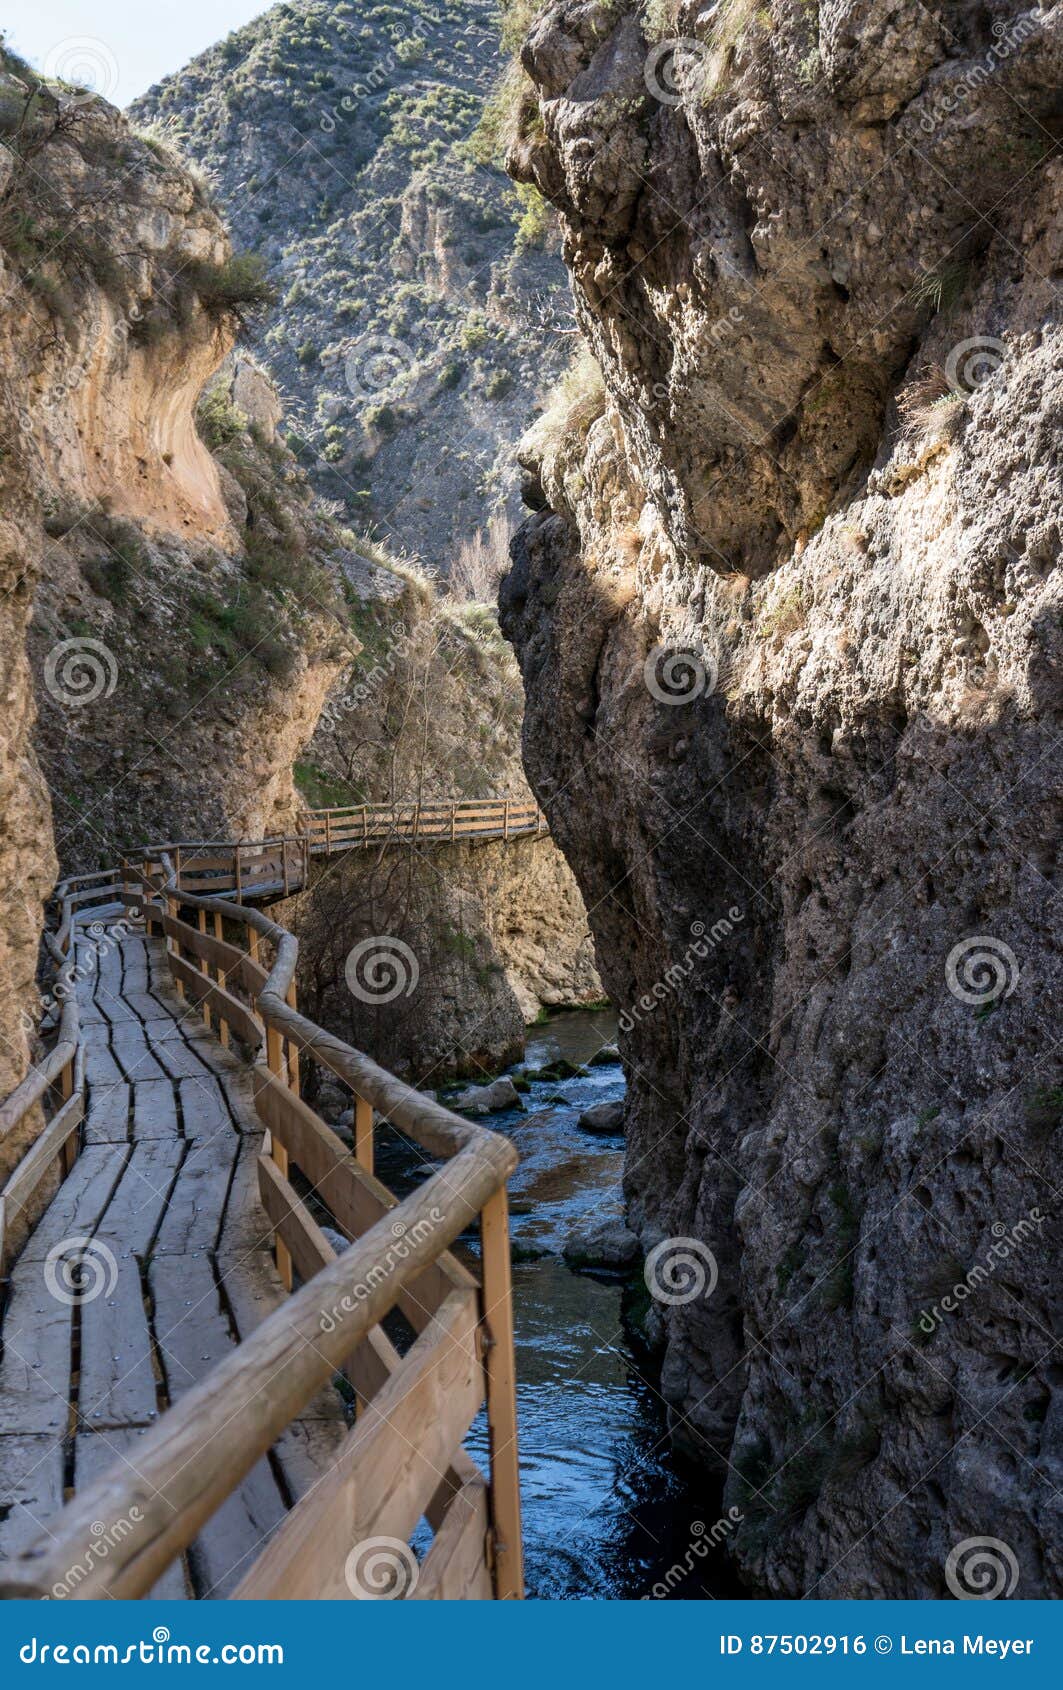
<svg viewBox="0 0 1063 1690"><path fill-rule="evenodd" d="M272 0L3 0L8 46L39 71L128 105Z"/></svg>

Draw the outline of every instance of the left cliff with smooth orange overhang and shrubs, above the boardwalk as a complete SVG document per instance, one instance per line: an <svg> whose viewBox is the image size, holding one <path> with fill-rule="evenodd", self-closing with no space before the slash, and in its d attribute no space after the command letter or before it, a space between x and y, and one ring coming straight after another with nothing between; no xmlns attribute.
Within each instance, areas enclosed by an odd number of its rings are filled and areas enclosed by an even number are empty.
<svg viewBox="0 0 1063 1690"><path fill-rule="evenodd" d="M59 859L262 835L291 825L292 757L357 649L340 537L262 379L240 358L201 399L262 282L166 149L19 69L0 84L3 517L30 564L22 620L35 585Z"/></svg>

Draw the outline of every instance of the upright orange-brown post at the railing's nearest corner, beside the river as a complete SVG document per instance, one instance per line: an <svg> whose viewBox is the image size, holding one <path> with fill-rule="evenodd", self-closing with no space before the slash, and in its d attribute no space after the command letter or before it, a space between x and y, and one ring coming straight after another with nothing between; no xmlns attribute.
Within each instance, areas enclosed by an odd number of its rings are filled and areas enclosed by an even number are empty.
<svg viewBox="0 0 1063 1690"><path fill-rule="evenodd" d="M522 1600L521 1472L517 1465L517 1364L505 1186L480 1213L483 1246L483 1325L487 1328L487 1426L490 1511L495 1540L495 1597Z"/></svg>

